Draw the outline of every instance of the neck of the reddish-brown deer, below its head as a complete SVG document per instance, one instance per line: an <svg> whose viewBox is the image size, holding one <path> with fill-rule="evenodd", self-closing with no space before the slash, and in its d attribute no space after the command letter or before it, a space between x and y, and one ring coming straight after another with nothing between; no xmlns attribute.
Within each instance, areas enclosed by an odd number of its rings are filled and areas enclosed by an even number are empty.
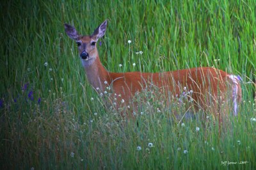
<svg viewBox="0 0 256 170"><path fill-rule="evenodd" d="M86 72L86 78L89 81L89 83L93 86L94 89L99 88L100 90L104 90L104 81L109 80L109 73L108 71L102 66L98 53L96 54L96 57L94 60L88 62L91 62L90 64L84 64L83 61L83 67ZM109 83L109 81L108 81Z"/></svg>

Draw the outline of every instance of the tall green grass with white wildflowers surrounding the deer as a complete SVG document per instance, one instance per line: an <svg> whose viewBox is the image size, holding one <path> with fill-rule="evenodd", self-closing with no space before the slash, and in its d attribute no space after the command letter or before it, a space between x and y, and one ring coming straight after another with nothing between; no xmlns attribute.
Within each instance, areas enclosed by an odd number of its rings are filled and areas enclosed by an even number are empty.
<svg viewBox="0 0 256 170"><path fill-rule="evenodd" d="M1 169L255 169L256 1L1 1L0 9ZM239 74L239 116L219 137L211 113L183 127L157 112L161 102L137 121L106 110L63 29L91 34L105 19L98 50L109 71Z"/></svg>

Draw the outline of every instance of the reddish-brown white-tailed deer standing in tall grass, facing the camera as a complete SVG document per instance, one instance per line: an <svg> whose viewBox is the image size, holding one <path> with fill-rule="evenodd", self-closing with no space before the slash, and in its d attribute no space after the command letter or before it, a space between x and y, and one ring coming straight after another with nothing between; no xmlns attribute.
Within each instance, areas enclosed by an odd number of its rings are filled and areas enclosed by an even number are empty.
<svg viewBox="0 0 256 170"><path fill-rule="evenodd" d="M71 39L76 40L86 77L93 88L98 93L104 93L104 90L111 85L113 93L122 96L116 99L117 107L121 103L128 104L136 92L140 92L148 84L154 84L166 92L166 97L170 94L180 96L182 95L180 88L186 87L193 92L191 97L195 110L202 108L205 111L211 111L214 115L225 114L227 111L221 111L220 106L231 101L232 111L237 115L237 106L241 101L239 76L228 74L220 69L196 67L164 73L107 71L100 62L96 46L99 38L104 36L106 26L107 20L99 25L92 35L81 36L73 26L65 24L65 32Z"/></svg>

